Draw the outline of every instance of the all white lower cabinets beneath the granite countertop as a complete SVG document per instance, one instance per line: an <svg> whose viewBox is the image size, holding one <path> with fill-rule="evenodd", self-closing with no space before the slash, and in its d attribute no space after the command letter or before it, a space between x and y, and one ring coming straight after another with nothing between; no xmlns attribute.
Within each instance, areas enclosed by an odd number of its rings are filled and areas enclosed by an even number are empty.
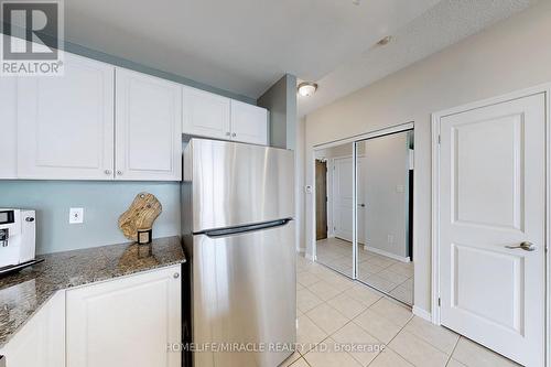
<svg viewBox="0 0 551 367"><path fill-rule="evenodd" d="M58 291L0 349L0 366L181 367L181 279L173 266Z"/></svg>

